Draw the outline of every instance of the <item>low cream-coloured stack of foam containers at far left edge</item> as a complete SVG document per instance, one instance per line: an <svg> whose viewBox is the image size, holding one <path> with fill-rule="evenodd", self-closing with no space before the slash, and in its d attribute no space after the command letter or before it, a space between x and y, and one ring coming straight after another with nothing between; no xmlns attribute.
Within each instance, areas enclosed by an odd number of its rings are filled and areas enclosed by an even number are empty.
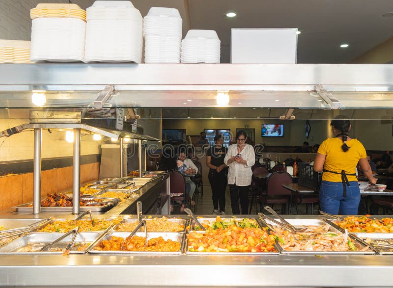
<svg viewBox="0 0 393 288"><path fill-rule="evenodd" d="M0 40L0 63L31 63L30 41Z"/></svg>

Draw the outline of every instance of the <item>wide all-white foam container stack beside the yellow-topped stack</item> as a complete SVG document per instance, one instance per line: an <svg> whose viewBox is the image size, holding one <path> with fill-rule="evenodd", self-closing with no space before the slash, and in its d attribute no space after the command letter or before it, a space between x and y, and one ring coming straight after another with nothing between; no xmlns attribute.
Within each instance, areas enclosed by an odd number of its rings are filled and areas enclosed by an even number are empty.
<svg viewBox="0 0 393 288"><path fill-rule="evenodd" d="M86 9L84 62L142 61L142 16L130 1L95 1Z"/></svg>

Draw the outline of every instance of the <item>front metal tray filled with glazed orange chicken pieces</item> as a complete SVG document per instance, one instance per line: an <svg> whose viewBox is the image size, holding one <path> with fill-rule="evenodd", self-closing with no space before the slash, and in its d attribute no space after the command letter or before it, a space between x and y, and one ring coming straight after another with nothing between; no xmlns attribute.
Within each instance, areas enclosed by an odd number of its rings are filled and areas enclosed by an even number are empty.
<svg viewBox="0 0 393 288"><path fill-rule="evenodd" d="M96 243L89 253L114 254L182 254L185 233L137 232L132 238L129 232L112 232Z"/></svg>

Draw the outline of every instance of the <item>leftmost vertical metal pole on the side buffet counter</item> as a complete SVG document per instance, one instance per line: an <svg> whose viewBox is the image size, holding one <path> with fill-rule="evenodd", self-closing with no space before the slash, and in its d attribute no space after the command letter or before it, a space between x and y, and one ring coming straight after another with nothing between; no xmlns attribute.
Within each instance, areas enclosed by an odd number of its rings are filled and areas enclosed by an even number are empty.
<svg viewBox="0 0 393 288"><path fill-rule="evenodd" d="M42 129L34 129L33 214L41 212L41 143Z"/></svg>

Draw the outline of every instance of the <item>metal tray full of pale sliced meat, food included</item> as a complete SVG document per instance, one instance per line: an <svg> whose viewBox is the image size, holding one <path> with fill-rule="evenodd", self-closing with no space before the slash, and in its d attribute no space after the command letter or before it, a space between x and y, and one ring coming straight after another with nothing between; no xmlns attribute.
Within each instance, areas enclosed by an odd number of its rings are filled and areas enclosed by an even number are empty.
<svg viewBox="0 0 393 288"><path fill-rule="evenodd" d="M264 219L278 240L283 254L375 254L355 237L318 219L286 219L297 230L291 233ZM279 220L279 219L276 219Z"/></svg>

